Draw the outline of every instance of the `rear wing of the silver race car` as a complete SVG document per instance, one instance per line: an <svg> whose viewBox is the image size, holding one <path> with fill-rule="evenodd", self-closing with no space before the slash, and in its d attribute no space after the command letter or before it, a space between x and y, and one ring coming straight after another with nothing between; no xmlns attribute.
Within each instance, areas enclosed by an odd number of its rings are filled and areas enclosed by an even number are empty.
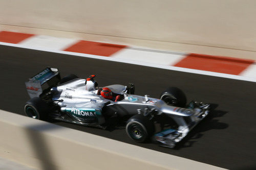
<svg viewBox="0 0 256 170"><path fill-rule="evenodd" d="M25 82L30 98L39 97L42 93L57 86L60 74L57 68L47 67Z"/></svg>

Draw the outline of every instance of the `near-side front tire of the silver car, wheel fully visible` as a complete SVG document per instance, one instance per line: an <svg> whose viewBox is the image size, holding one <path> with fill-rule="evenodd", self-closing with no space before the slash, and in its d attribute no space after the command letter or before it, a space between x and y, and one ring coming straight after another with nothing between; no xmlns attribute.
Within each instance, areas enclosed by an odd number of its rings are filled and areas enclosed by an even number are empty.
<svg viewBox="0 0 256 170"><path fill-rule="evenodd" d="M127 120L127 135L136 142L147 141L155 132L154 123L142 114L136 114Z"/></svg>

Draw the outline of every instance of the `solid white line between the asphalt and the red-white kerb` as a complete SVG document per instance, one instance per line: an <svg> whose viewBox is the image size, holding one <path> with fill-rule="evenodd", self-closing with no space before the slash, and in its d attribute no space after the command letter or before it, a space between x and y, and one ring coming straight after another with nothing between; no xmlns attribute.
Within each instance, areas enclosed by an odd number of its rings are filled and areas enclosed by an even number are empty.
<svg viewBox="0 0 256 170"><path fill-rule="evenodd" d="M211 72L211 71L204 71L204 70L197 70L197 69L190 69L190 68L182 68L182 67L175 67L175 66L168 66L168 65L160 65L160 64L154 64L154 63L147 63L147 62L127 60L127 59L112 58L112 57L103 57L103 56L96 56L96 55L90 55L90 54L66 52L66 51L53 50L53 49L44 48L44 47L31 47L31 46L5 43L5 42L0 42L0 45L14 46L14 47L20 47L20 48L28 48L28 49L31 49L31 50L38 50L38 51L45 51L45 52L52 52L52 53L59 53L59 54L67 54L67 55L94 58L94 59L100 59L100 60L108 60L108 61L129 63L129 64L142 65L142 66L155 67L155 68L162 68L162 69L168 69L168 70L189 72L189 73L193 73L193 74L200 74L200 75L207 75L207 76L215 76L215 77L221 77L221 78L256 82L256 78L237 76L237 75L229 75L229 74L223 74L223 73L219 73L219 72Z"/></svg>

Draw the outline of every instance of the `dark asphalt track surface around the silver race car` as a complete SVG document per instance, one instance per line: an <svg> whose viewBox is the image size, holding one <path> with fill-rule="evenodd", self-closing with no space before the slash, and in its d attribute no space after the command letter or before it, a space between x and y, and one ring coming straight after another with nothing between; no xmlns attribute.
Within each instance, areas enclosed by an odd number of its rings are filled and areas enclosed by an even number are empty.
<svg viewBox="0 0 256 170"><path fill-rule="evenodd" d="M62 76L97 75L99 86L133 82L136 94L153 98L176 86L188 101L218 105L176 149L136 143L124 129L54 124L228 169L256 169L256 83L0 45L0 109L24 115L29 100L24 82L46 66L59 68Z"/></svg>

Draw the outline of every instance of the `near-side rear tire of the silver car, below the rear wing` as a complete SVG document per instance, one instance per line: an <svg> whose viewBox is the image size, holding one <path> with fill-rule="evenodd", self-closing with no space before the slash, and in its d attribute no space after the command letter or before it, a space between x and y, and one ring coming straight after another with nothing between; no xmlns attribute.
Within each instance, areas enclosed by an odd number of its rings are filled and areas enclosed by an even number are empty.
<svg viewBox="0 0 256 170"><path fill-rule="evenodd" d="M50 109L45 101L40 98L32 98L25 104L24 111L28 117L47 120Z"/></svg>

